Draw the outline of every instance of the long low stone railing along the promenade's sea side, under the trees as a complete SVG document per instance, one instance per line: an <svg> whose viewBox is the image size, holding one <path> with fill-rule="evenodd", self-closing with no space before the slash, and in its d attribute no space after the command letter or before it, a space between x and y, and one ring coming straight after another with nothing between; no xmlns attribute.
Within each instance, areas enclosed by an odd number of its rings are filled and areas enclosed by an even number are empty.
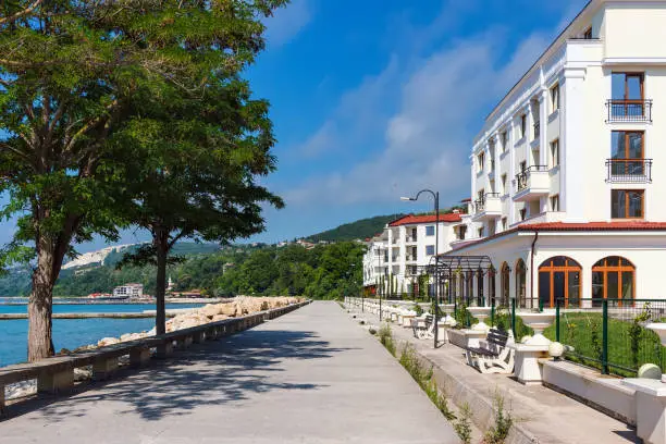
<svg viewBox="0 0 666 444"><path fill-rule="evenodd" d="M215 341L251 329L307 304L310 304L310 300L210 322L192 329L177 330L160 336L123 342L66 356L54 356L32 363L2 367L0 368L0 417L7 415L5 385L37 380L38 393L63 393L74 386L74 369L76 368L92 366L92 379L104 380L119 368L119 359L123 356L130 357L131 367L140 368L146 366L151 357L165 359L173 354L174 348L187 348L193 343ZM155 355L151 354L152 348L156 349Z"/></svg>

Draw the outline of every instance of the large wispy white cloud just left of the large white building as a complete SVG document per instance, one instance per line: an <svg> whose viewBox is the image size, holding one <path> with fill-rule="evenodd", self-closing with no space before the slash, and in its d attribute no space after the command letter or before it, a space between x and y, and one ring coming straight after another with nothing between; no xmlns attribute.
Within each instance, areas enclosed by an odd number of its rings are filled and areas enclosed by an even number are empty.
<svg viewBox="0 0 666 444"><path fill-rule="evenodd" d="M497 40L494 33L486 33L441 49L409 66L397 66L393 59L392 72L409 70L404 81L395 75L380 75L372 82L366 81L342 101L362 103L365 109L372 110L381 109L385 99L382 96L392 91L398 95L397 112L381 122L383 149L347 171L307 180L284 194L287 203L309 205L322 199L335 205L391 202L422 187L442 192L443 205L467 197L468 153L471 138L482 124L479 115L513 85L545 45L543 37L533 35L506 64L497 66L496 54L502 49ZM353 108L341 106L336 114ZM322 134L328 134L340 121L340 115L331 118L311 143L321 141ZM336 144L354 143L344 125L337 128L345 133L336 132Z"/></svg>

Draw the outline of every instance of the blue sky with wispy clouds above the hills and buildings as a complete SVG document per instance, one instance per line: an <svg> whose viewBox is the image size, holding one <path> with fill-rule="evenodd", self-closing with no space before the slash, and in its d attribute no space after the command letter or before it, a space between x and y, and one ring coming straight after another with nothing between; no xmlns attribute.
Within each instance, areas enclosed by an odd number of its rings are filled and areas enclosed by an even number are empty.
<svg viewBox="0 0 666 444"><path fill-rule="evenodd" d="M246 73L278 139L278 170L261 182L286 201L250 240L425 211L432 201L399 200L422 188L443 208L469 197L484 116L585 3L292 0L266 20L267 49ZM0 243L13 230L0 223ZM121 243L146 238L131 230Z"/></svg>

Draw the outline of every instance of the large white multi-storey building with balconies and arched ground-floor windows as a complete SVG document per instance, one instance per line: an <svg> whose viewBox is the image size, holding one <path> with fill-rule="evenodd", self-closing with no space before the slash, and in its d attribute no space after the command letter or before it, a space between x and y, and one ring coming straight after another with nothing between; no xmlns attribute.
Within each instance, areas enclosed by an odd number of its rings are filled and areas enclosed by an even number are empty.
<svg viewBox="0 0 666 444"><path fill-rule="evenodd" d="M666 1L592 0L492 110L467 236L447 252L492 269L456 278L454 295L666 297L665 42Z"/></svg>

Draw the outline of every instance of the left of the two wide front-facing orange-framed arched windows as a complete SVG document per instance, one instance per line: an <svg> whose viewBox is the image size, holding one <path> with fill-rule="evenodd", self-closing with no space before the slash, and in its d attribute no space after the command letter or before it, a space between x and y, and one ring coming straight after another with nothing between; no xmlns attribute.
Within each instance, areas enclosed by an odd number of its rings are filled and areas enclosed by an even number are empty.
<svg viewBox="0 0 666 444"><path fill-rule="evenodd" d="M580 306L580 276L582 268L571 258L556 256L539 267L539 300L544 307Z"/></svg>

